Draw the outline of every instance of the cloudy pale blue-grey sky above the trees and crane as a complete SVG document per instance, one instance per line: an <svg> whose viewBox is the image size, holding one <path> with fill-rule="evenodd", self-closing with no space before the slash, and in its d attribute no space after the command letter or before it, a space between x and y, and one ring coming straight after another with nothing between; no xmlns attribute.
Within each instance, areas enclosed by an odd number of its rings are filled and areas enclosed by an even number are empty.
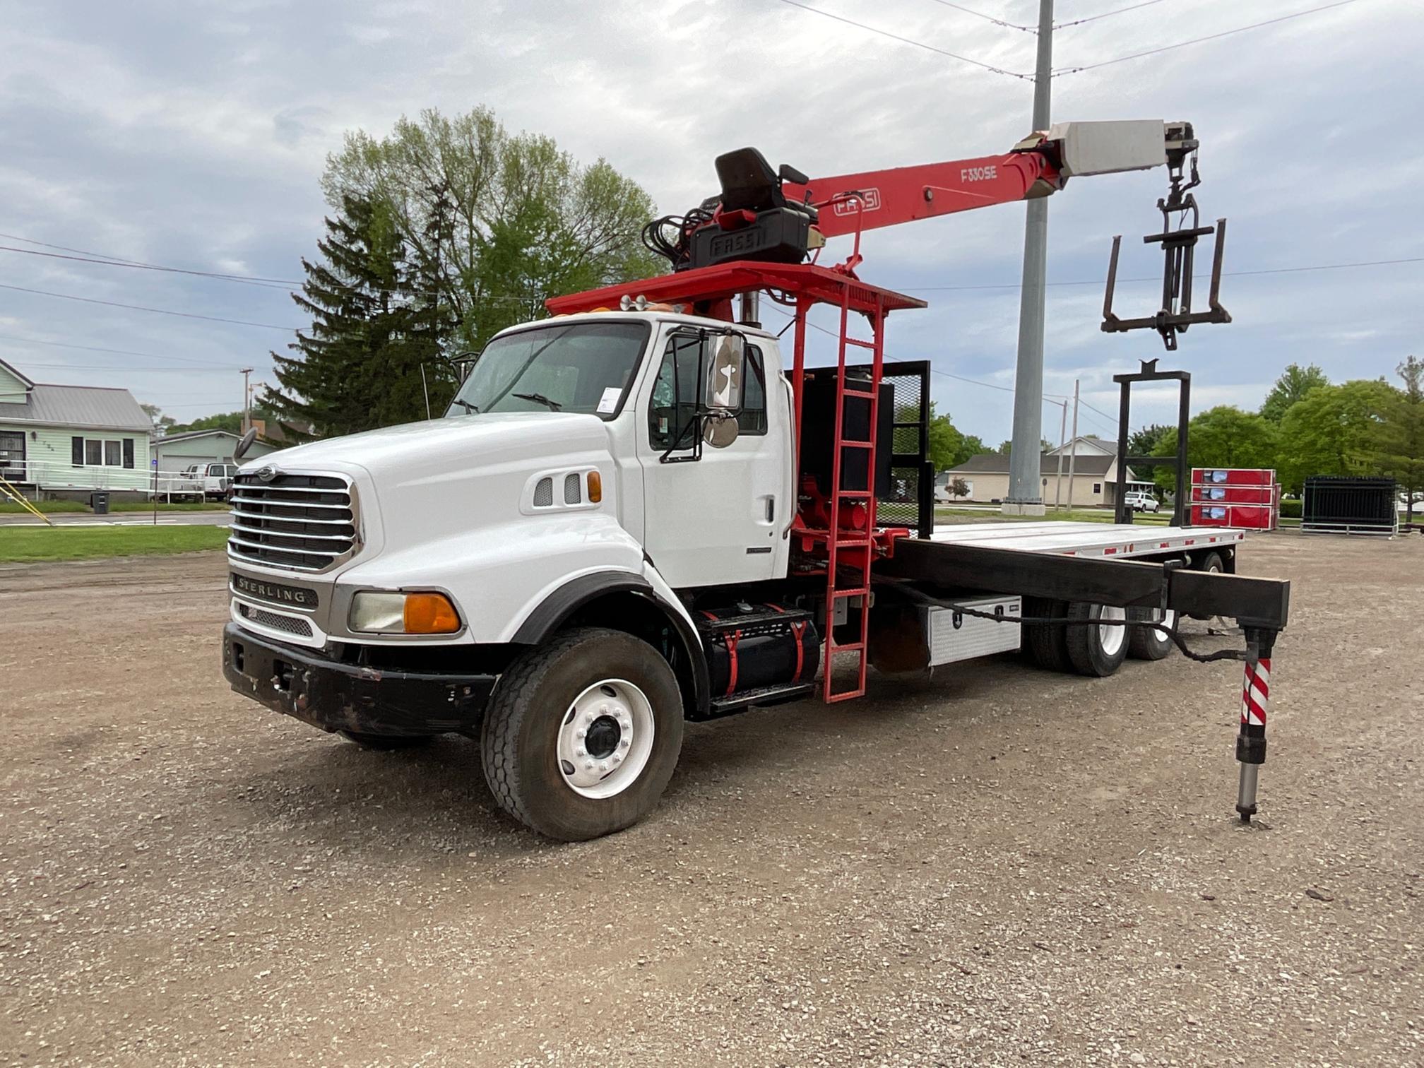
<svg viewBox="0 0 1424 1068"><path fill-rule="evenodd" d="M1101 333L1115 234L1122 278L1152 279L1119 282L1116 310L1159 303L1161 252L1139 238L1161 229L1166 177L1071 181L1049 201L1045 437L1075 380L1079 433L1114 437L1112 375L1139 359L1189 370L1202 410L1257 407L1292 362L1346 380L1393 376L1418 352L1424 4L1312 10L1324 3L1058 0L1061 26L1088 21L1054 34L1054 121L1192 121L1203 216L1230 219L1226 271L1247 273L1223 281L1233 323L1193 328L1176 353L1152 332ZM510 130L608 159L679 214L716 191L713 158L742 145L812 177L1008 151L1031 127L1031 80L1011 74L1032 71L1035 37L1018 27L1037 10L0 0L0 359L37 382L124 386L179 422L241 407L239 369L272 382L271 350L305 325L282 281L302 278L322 234L328 152L429 107L487 105ZM1229 33L1266 20L1282 21ZM1022 234L1024 206L1001 205L863 239L862 278L930 302L890 318L887 357L930 359L938 410L991 446L1010 436ZM46 245L276 281L33 255L74 255ZM829 339L812 336L823 359ZM1173 389L1141 387L1134 427L1175 409Z"/></svg>

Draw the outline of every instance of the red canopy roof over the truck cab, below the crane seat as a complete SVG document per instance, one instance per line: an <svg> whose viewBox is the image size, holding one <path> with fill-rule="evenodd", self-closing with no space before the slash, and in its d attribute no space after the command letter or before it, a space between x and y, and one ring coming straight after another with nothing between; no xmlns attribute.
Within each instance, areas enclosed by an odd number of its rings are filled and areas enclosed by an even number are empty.
<svg viewBox="0 0 1424 1068"><path fill-rule="evenodd" d="M618 308L618 302L624 296L645 296L651 302L692 305L723 300L738 293L760 289L780 289L792 296L806 296L837 306L842 293L849 289L850 310L853 312L874 312L877 303L886 312L926 306L924 300L860 282L830 268L812 263L758 263L746 259L674 275L659 275L641 282L588 289L582 293L551 296L544 305L553 315L572 315L591 312L595 308Z"/></svg>

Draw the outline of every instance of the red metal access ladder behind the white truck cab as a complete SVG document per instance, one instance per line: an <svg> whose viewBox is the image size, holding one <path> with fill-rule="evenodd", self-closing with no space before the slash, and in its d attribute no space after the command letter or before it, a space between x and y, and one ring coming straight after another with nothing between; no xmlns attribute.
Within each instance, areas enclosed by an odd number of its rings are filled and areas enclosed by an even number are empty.
<svg viewBox="0 0 1424 1068"><path fill-rule="evenodd" d="M859 245L859 234L857 245ZM830 531L826 537L826 669L822 678L822 699L826 703L849 701L863 696L866 692L866 662L867 642L870 638L870 561L874 558L874 527L876 527L876 429L880 426L880 376L884 363L884 300L877 299L874 313L870 319L871 340L849 336L850 319L850 289L847 282L840 293L840 342L836 355L836 436L832 447L830 461ZM849 346L869 349L870 390L847 389L846 386L846 350ZM856 397L870 402L870 439L847 439L844 434L846 397ZM866 488L846 490L840 484L842 460L847 449L860 450L866 457ZM842 530L842 503L864 503L864 530ZM847 537L849 535L849 537ZM840 560L840 551L846 554L846 562ZM842 568L847 572L842 580ZM843 585L852 582L852 585ZM834 639L836 605L840 601L860 598L860 635L853 642L837 645ZM837 652L856 654L856 686L854 689L836 691L833 685L833 662Z"/></svg>

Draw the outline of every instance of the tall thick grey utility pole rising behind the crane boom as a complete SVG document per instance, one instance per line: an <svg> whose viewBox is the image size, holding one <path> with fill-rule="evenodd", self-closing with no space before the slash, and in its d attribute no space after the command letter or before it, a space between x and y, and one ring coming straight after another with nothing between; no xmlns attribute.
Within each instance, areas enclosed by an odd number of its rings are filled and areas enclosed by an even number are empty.
<svg viewBox="0 0 1424 1068"><path fill-rule="evenodd" d="M1054 0L1038 0L1038 63L1034 68L1034 130L1048 130L1054 64ZM1014 373L1014 444L1008 453L1008 515L1042 515L1040 441L1044 430L1044 282L1048 265L1048 198L1028 202L1024 288L1018 300L1018 365ZM1072 498L1068 498L1072 507Z"/></svg>

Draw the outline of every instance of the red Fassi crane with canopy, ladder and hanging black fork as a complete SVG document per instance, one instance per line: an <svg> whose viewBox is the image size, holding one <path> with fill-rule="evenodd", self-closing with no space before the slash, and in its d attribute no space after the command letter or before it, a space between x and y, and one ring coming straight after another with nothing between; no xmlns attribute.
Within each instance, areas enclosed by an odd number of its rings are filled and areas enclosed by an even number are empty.
<svg viewBox="0 0 1424 1068"><path fill-rule="evenodd" d="M823 574L826 611L830 618L839 602L856 602L870 592L873 560L890 555L894 541L909 531L877 527L874 477L864 486L846 488L842 470L849 461L854 470L876 471L876 433L879 426L880 383L884 362L884 319L891 310L924 308L924 302L860 281L860 236L866 229L928 219L958 211L1008 204L1030 197L1047 197L1062 189L1071 177L1138 171L1166 165L1172 191L1159 201L1163 218L1190 214L1193 226L1179 226L1161 241L1168 252L1163 282L1163 309L1151 319L1116 320L1108 309L1104 329L1125 330L1148 326L1158 329L1168 347L1175 346L1176 330L1189 322L1229 322L1216 303L1213 310L1192 316L1189 306L1178 303L1183 285L1183 249L1186 300L1190 299L1190 246L1212 228L1198 228L1196 204L1188 192L1196 182L1198 142L1188 124L1146 122L1068 122L1034 134L1004 155L956 159L921 167L863 171L830 178L807 178L789 165L773 169L755 148L718 157L721 194L703 201L681 216L665 216L648 224L644 242L668 258L672 273L605 286L547 300L554 315L609 310L612 308L669 305L676 310L733 320L732 299L769 293L792 309L795 320L792 386L796 397L796 454L803 493L792 534L796 538L800 574ZM1192 161L1190 178L1183 177ZM834 266L816 261L827 238L852 235L849 255ZM806 259L810 258L810 262ZM1116 269L1116 245L1114 246ZM1216 272L1220 272L1218 242ZM1111 300L1109 276L1109 300ZM800 464L802 406L806 384L806 316L817 303L840 310L837 332L837 372L834 392L834 431L829 490L820 493ZM745 308L755 309L756 300ZM869 337L852 336L850 315L860 313L870 328ZM743 312L743 322L756 319ZM759 325L759 323L758 323ZM846 357L853 349L870 356L867 367L847 376ZM869 375L866 373L869 372ZM846 403L869 409L869 437L846 433ZM854 457L854 459L853 459ZM827 662L836 652L854 654L859 678L854 688L834 691L832 672L824 674L824 699L860 696L866 684L869 612L860 614L859 639L837 644L827 632ZM827 628L829 631L829 628Z"/></svg>

